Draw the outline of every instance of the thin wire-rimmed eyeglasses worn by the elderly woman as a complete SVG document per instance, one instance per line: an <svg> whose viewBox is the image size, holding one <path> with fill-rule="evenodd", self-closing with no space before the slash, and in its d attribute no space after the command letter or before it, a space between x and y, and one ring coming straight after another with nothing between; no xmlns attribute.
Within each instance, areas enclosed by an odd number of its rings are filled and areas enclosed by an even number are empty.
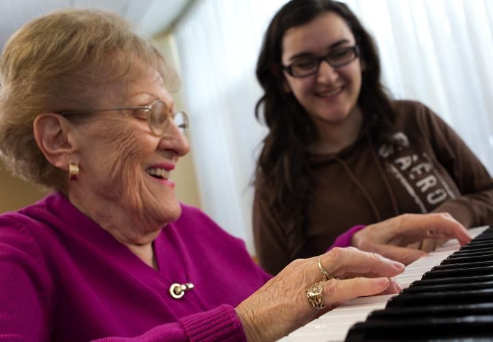
<svg viewBox="0 0 493 342"><path fill-rule="evenodd" d="M185 134L188 129L188 116L184 111L171 111L166 103L161 100L154 101L151 105L146 106L136 106L136 107L118 107L111 109L88 109L88 110L77 110L77 111L65 111L60 113L62 116L72 115L72 114L88 114L96 113L97 111L134 111L134 116L136 118L143 118L147 116L147 124L149 124L149 129L157 137L162 137L164 132L168 127L169 122L173 121L176 127L178 127L181 133Z"/></svg>

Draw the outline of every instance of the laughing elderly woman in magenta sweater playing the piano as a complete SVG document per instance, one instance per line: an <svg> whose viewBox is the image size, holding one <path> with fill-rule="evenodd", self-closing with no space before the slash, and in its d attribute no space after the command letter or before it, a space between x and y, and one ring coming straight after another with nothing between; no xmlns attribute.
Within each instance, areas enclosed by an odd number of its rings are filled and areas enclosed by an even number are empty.
<svg viewBox="0 0 493 342"><path fill-rule="evenodd" d="M6 44L0 73L2 159L54 189L0 216L2 341L271 340L348 298L399 290L401 263L355 248L272 278L180 204L170 173L189 144L175 75L123 18L38 18ZM429 224L469 239L446 216L403 222L410 239ZM375 243L401 234L374 228Z"/></svg>

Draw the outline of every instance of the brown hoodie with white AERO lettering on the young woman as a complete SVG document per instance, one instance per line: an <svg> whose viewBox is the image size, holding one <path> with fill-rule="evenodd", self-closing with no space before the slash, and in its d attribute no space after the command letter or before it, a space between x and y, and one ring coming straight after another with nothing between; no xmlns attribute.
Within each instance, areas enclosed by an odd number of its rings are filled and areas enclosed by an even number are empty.
<svg viewBox="0 0 493 342"><path fill-rule="evenodd" d="M309 157L309 219L296 257L325 252L351 226L402 213L448 212L468 228L493 223L493 179L460 137L425 105L395 101L394 109L394 137L406 147L364 134L335 155ZM267 272L292 261L286 234L257 199L253 235Z"/></svg>

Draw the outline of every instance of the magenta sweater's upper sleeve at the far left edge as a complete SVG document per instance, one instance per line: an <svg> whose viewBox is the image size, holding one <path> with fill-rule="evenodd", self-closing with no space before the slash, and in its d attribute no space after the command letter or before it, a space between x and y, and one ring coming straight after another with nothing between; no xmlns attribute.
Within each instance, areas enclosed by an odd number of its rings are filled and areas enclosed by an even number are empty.
<svg viewBox="0 0 493 342"><path fill-rule="evenodd" d="M34 237L0 218L0 340L46 341L51 280Z"/></svg>

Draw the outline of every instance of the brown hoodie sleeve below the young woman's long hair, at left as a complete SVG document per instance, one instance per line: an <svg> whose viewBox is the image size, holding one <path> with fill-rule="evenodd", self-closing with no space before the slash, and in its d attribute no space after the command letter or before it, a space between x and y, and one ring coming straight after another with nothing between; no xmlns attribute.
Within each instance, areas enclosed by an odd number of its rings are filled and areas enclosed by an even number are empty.
<svg viewBox="0 0 493 342"><path fill-rule="evenodd" d="M253 200L252 224L256 257L260 266L270 274L278 274L292 261L287 237L272 215L268 215L266 209L262 208L256 195Z"/></svg>

